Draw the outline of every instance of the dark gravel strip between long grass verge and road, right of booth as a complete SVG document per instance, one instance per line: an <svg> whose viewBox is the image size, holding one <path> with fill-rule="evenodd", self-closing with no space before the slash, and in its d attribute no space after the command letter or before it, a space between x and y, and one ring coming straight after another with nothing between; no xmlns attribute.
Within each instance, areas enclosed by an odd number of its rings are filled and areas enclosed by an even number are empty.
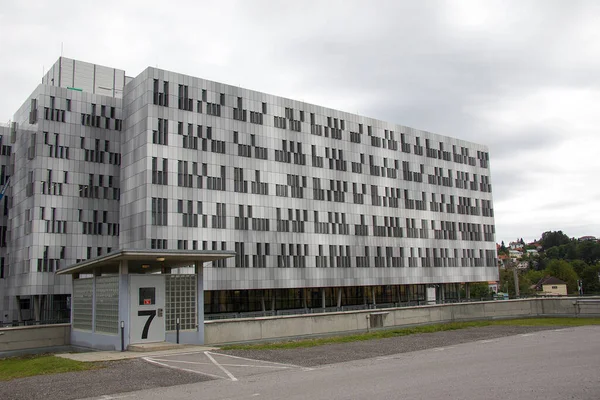
<svg viewBox="0 0 600 400"><path fill-rule="evenodd" d="M520 335L560 326L486 326L455 331L423 333L399 336L380 340L366 340L340 344L328 344L300 349L283 350L227 350L219 353L273 361L286 364L314 367L372 357L388 356L398 353L425 350L436 347L452 346L477 340L494 339L504 336Z"/></svg>

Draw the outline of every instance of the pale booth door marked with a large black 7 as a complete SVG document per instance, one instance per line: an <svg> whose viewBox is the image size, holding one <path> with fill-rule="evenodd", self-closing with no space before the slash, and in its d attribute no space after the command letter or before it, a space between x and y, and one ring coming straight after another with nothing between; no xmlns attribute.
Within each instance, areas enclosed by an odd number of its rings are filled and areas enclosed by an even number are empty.
<svg viewBox="0 0 600 400"><path fill-rule="evenodd" d="M130 275L129 289L129 343L164 342L164 275Z"/></svg>

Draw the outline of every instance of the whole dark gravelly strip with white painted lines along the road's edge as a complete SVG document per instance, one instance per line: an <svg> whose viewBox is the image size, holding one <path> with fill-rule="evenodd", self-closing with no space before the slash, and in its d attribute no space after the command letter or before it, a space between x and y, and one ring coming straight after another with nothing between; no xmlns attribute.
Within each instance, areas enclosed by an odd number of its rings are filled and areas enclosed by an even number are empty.
<svg viewBox="0 0 600 400"><path fill-rule="evenodd" d="M293 350L235 350L180 353L103 364L91 371L0 382L0 399L111 399L141 389L213 380L238 380L282 370L389 356L560 327L489 326Z"/></svg>

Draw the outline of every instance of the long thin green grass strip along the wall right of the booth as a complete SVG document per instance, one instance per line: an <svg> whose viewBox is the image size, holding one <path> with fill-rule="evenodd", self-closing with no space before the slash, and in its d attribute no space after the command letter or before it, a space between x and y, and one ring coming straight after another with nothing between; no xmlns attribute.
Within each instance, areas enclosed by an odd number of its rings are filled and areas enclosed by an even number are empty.
<svg viewBox="0 0 600 400"><path fill-rule="evenodd" d="M582 325L600 325L600 318L522 318L510 320L494 321L471 321L471 322L449 322L444 324L421 325L410 328L386 329L369 333L360 333L355 335L331 336L316 339L300 339L293 341L259 343L247 345L228 345L222 346L222 350L277 350L277 349L298 349L306 347L322 346L325 344L349 343L362 340L385 339L391 337L416 335L421 333L434 333L443 331L453 331L465 328L477 328L493 325L510 326L582 326Z"/></svg>

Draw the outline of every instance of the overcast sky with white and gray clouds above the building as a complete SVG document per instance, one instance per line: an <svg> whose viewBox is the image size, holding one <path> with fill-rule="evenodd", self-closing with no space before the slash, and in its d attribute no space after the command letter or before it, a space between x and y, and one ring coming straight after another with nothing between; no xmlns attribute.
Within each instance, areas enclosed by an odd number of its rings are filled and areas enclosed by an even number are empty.
<svg viewBox="0 0 600 400"><path fill-rule="evenodd" d="M0 0L0 121L61 43L488 145L498 242L600 236L600 1Z"/></svg>

